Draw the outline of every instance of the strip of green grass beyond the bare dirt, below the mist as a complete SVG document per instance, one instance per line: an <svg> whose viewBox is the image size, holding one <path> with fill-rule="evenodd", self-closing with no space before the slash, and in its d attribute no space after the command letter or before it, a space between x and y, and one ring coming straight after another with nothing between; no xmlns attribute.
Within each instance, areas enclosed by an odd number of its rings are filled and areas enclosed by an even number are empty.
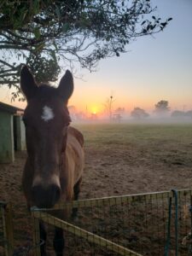
<svg viewBox="0 0 192 256"><path fill-rule="evenodd" d="M192 124L74 124L84 133L85 143L134 143L138 145L174 141L175 143L190 143L192 145Z"/></svg>

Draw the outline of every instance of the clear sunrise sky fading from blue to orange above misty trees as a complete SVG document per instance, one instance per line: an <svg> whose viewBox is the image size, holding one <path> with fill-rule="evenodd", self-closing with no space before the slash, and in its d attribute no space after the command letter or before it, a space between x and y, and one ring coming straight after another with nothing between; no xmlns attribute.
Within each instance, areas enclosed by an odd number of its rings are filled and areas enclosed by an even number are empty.
<svg viewBox="0 0 192 256"><path fill-rule="evenodd" d="M113 110L144 108L153 112L160 100L172 110L192 109L192 1L152 0L157 13L173 20L164 32L137 38L119 57L99 62L96 73L82 69L83 79L74 79L69 105L79 111L101 113L113 96ZM0 89L0 101L10 103L10 92ZM13 105L24 108L25 103Z"/></svg>

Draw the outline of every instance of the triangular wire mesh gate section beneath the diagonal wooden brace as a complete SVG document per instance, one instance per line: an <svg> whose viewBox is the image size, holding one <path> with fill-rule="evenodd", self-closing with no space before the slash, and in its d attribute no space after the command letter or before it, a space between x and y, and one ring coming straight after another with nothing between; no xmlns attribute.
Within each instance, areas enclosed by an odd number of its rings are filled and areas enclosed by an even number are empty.
<svg viewBox="0 0 192 256"><path fill-rule="evenodd" d="M65 255L127 255L127 256L142 256L128 248L122 247L114 241L105 239L88 230L79 228L79 226L70 224L67 221L56 218L48 212L38 212L33 209L34 226L36 227L34 233L34 247L38 244L40 239L40 230L38 229L38 219L43 220L44 223L53 225L57 228L65 230L67 244L65 247ZM47 242L46 242L47 243ZM50 251L50 253L53 253ZM36 255L40 254L40 247L36 247Z"/></svg>

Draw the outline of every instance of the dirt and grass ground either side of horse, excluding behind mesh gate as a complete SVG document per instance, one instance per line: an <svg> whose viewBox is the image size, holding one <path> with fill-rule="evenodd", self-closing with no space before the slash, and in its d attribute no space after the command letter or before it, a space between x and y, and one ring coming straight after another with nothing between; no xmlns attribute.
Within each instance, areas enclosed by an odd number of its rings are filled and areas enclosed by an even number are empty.
<svg viewBox="0 0 192 256"><path fill-rule="evenodd" d="M192 188L192 125L78 125L85 168L80 198ZM16 234L26 222L20 185L26 152L0 165L0 201L15 208Z"/></svg>

